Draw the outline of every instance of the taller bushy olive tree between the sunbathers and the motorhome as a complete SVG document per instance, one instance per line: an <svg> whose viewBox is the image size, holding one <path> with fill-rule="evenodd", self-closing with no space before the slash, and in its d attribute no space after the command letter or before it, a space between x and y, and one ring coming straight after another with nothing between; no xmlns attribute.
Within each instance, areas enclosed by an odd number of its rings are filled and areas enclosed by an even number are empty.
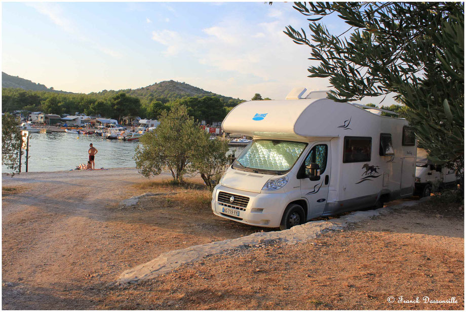
<svg viewBox="0 0 466 312"><path fill-rule="evenodd" d="M187 113L186 106L174 105L162 111L160 125L152 133L144 134L136 147L136 168L145 176L158 175L168 168L173 181L181 183L186 166L197 150L201 129Z"/></svg>

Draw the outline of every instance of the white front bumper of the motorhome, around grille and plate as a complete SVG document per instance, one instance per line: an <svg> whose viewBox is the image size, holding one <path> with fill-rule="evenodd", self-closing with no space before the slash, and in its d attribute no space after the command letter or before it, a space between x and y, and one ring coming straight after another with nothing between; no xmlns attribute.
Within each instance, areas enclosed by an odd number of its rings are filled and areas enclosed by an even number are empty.
<svg viewBox="0 0 466 312"><path fill-rule="evenodd" d="M236 207L229 203L218 201L218 193L222 191L249 198L246 207ZM282 221L282 215L288 205L288 196L286 193L254 193L226 186L217 185L212 194L212 211L215 215L255 226L279 227ZM224 208L234 209L239 212L239 216L231 216L223 213Z"/></svg>

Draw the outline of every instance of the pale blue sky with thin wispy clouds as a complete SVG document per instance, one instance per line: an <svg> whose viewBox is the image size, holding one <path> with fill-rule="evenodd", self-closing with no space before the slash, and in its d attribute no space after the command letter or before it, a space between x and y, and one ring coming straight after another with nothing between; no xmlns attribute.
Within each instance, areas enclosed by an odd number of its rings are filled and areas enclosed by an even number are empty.
<svg viewBox="0 0 466 312"><path fill-rule="evenodd" d="M337 16L322 22L347 29ZM2 71L76 93L165 80L240 99L329 90L327 79L307 77L310 51L287 25L308 29L292 3L3 2Z"/></svg>

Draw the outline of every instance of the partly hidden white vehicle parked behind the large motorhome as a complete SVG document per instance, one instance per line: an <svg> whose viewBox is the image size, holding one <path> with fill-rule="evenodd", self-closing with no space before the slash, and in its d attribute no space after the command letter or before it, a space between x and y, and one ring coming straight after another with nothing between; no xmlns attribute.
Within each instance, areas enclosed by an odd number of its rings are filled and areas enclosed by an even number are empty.
<svg viewBox="0 0 466 312"><path fill-rule="evenodd" d="M419 197L431 196L431 192L443 187L454 186L456 175L454 170L435 165L428 160L428 153L423 148L417 149L415 194Z"/></svg>

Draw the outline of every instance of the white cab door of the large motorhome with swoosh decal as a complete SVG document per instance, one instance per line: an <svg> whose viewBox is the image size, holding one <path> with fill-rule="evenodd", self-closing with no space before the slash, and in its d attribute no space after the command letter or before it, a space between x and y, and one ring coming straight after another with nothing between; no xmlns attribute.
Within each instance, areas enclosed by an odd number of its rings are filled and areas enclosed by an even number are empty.
<svg viewBox="0 0 466 312"><path fill-rule="evenodd" d="M310 164L318 164L317 177L309 179ZM301 196L309 203L307 220L319 217L327 205L328 188L330 182L330 142L319 142L310 149L301 168L299 178L301 181Z"/></svg>

